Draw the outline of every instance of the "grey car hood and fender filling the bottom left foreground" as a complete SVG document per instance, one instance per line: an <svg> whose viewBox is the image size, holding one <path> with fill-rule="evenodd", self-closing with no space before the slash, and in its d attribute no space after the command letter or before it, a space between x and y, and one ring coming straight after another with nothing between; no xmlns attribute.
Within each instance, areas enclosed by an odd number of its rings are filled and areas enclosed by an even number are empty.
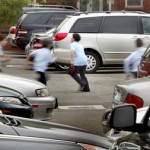
<svg viewBox="0 0 150 150"><path fill-rule="evenodd" d="M32 145L34 140L36 140L34 145L39 141L39 148L36 147L38 150L48 150L47 147L49 150L104 150L113 143L106 137L94 135L79 128L3 114L0 115L0 133L1 136L10 135L9 138L14 136L16 140L14 142L10 139L9 144L5 145L5 150L9 149L12 143L14 143L13 148L17 145L16 149L33 149L35 146L29 147L29 145ZM3 149L1 136L0 146ZM29 145L26 148L20 148L20 143L23 146ZM45 147L42 149L43 144Z"/></svg>

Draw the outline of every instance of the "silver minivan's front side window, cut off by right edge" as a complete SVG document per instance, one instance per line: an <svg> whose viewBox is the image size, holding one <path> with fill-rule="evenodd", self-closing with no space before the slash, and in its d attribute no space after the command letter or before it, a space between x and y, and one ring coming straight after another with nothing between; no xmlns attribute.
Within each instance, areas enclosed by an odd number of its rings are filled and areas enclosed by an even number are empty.
<svg viewBox="0 0 150 150"><path fill-rule="evenodd" d="M142 24L143 24L143 34L150 34L150 18L143 17Z"/></svg>

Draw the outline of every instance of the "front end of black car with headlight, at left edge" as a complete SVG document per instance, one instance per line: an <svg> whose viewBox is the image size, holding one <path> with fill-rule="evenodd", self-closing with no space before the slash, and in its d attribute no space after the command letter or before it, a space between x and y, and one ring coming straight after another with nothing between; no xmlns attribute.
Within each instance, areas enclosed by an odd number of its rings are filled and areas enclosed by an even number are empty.
<svg viewBox="0 0 150 150"><path fill-rule="evenodd" d="M32 106L20 92L0 86L0 111L3 114L32 118Z"/></svg>

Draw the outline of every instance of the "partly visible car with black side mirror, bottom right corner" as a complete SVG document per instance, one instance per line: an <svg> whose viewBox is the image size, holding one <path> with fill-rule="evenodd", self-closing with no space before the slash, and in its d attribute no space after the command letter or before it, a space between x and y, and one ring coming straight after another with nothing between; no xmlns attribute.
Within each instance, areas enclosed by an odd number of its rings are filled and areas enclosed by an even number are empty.
<svg viewBox="0 0 150 150"><path fill-rule="evenodd" d="M138 122L137 116L135 105L121 105L112 110L109 126L130 133L116 140L110 150L150 149L150 106L140 114Z"/></svg>

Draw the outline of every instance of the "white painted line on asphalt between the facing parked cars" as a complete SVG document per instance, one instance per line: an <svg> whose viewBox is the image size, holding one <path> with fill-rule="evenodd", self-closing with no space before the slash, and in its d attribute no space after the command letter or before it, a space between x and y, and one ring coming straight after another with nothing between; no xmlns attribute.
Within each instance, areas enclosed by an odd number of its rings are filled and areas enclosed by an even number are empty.
<svg viewBox="0 0 150 150"><path fill-rule="evenodd" d="M59 106L59 109L105 109L103 105L69 105L69 106Z"/></svg>

